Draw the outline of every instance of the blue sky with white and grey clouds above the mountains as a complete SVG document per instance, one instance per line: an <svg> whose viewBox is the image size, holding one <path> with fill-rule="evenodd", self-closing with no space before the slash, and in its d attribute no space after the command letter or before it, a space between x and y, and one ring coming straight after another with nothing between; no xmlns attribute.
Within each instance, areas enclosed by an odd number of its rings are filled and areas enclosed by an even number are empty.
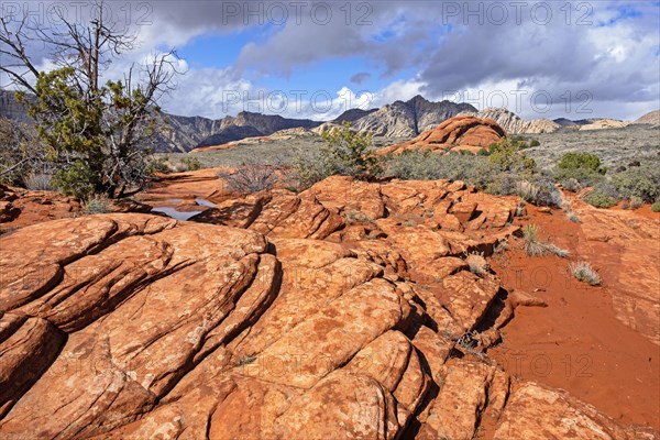
<svg viewBox="0 0 660 440"><path fill-rule="evenodd" d="M262 110L327 120L418 94L480 109L504 105L527 119L636 119L660 108L658 1L166 0L131 8L130 18L114 12L139 32L140 48L107 75L176 47L186 74L163 102L176 114ZM312 97L328 106L312 106Z"/></svg>

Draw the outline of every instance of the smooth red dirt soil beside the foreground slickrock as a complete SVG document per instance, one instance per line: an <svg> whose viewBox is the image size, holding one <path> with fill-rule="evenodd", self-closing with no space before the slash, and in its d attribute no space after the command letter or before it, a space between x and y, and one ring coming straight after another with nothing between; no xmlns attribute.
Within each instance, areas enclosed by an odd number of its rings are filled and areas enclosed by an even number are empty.
<svg viewBox="0 0 660 440"><path fill-rule="evenodd" d="M516 223L537 224L542 240L568 249L571 256L529 257L520 250L521 240L517 240L509 243L503 255L492 258L493 270L507 290L534 293L548 307L516 309L515 319L502 331L503 342L490 349L488 354L514 377L564 388L624 424L660 429L660 345L652 342L653 334L648 332L649 326L651 333L653 327L654 331L660 330L658 322L649 321L646 315L641 317L646 321L637 322L637 316L622 317L620 305L615 309L615 301L620 298L635 304L639 296L639 285L628 287L630 284L620 283L624 271L628 271L624 276L630 276L630 263L625 262L626 266L623 258L616 257L616 243L587 242L583 224L571 223L561 210L547 213L530 206L527 210L527 217L517 218ZM642 222L651 220L658 229L660 216L648 206L623 215L637 216ZM654 266L656 272L648 273L641 283L651 289L645 295L660 301L660 263L658 257L653 262L652 255L653 250L646 264ZM569 263L578 260L587 260L600 268L601 287L580 283L569 274ZM632 324L626 324L627 319ZM639 328L634 329L638 323Z"/></svg>

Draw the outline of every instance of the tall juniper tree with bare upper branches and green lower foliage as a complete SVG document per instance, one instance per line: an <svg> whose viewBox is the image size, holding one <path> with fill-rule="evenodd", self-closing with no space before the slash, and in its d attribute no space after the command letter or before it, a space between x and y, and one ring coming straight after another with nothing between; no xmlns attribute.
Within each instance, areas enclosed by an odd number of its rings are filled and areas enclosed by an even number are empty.
<svg viewBox="0 0 660 440"><path fill-rule="evenodd" d="M135 35L127 36L103 11L98 3L87 23L59 14L59 24L50 28L31 25L28 16L0 19L0 73L21 90L16 98L28 106L57 169L54 184L80 197L121 197L144 186L157 103L179 74L172 50L132 64L122 79L103 82L101 72L135 45ZM34 41L50 51L55 68L37 68L29 53ZM25 99L25 92L36 99Z"/></svg>

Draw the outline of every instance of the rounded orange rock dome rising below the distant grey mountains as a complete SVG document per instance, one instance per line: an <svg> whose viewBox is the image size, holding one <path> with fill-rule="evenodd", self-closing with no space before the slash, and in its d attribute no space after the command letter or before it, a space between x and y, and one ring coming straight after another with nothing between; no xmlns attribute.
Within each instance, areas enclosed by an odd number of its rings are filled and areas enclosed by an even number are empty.
<svg viewBox="0 0 660 440"><path fill-rule="evenodd" d="M425 131L411 141L378 150L378 154L399 154L409 150L429 150L441 153L465 150L477 153L497 142L505 134L504 130L492 119L459 116L448 119L435 129Z"/></svg>

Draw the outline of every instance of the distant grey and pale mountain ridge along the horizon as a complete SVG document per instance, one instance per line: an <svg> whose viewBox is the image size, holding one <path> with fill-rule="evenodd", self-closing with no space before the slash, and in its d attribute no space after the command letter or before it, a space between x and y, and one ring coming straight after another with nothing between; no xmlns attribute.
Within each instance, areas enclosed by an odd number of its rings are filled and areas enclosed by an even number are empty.
<svg viewBox="0 0 660 440"><path fill-rule="evenodd" d="M457 103L448 100L429 101L421 95L411 99L396 100L381 108L369 110L350 109L331 121L314 121L310 119L289 119L279 114L263 114L242 111L235 117L221 119L205 117L184 117L163 113L166 124L156 133L156 152L186 153L198 147L207 147L246 138L268 136L282 130L302 128L307 130L334 127L341 122L351 122L358 131L371 131L375 136L415 138L420 133L435 129L442 122L459 114L475 116L495 120L507 133L537 134L551 133L557 130L596 130L616 129L628 124L612 119L585 119L572 121L559 118L521 119L516 113L503 108L477 110L470 103ZM0 117L21 123L31 123L25 107L9 90L0 89ZM647 113L636 123L653 123L658 120L658 111ZM648 121L648 122L641 122Z"/></svg>

